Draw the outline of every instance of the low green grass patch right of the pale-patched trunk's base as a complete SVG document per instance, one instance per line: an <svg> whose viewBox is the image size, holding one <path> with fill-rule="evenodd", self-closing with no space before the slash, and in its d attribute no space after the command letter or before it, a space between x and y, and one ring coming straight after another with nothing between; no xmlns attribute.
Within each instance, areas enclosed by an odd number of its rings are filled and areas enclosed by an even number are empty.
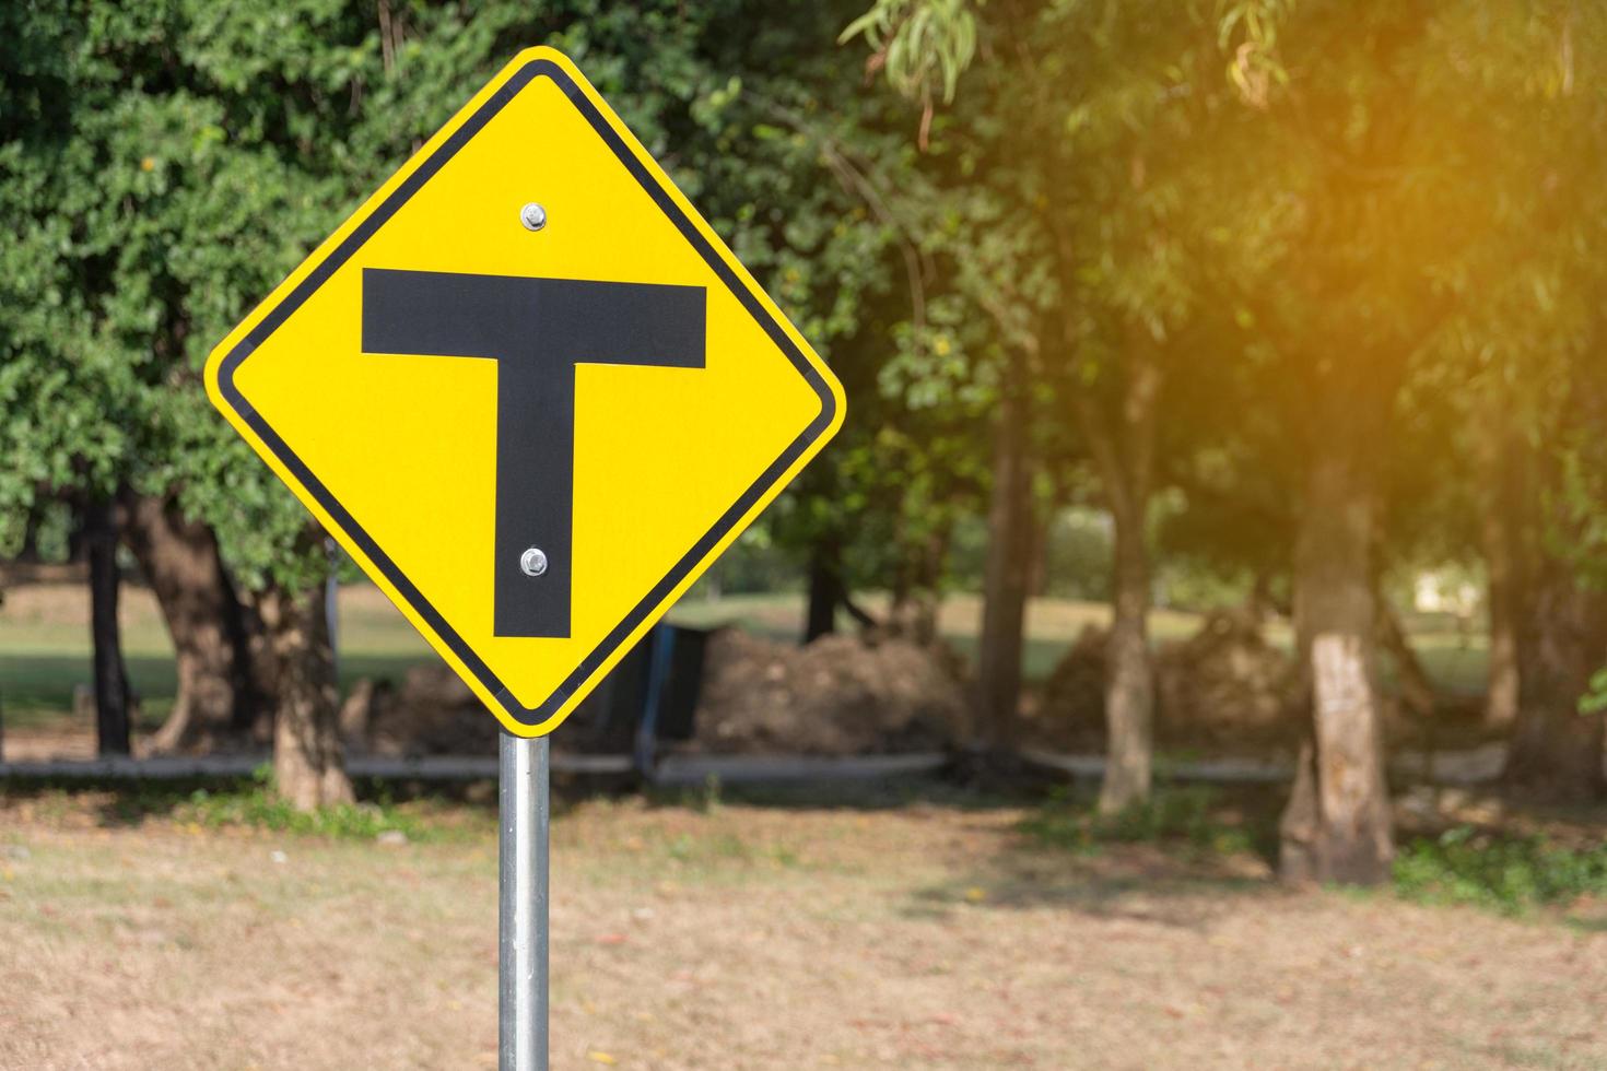
<svg viewBox="0 0 1607 1071"><path fill-rule="evenodd" d="M1607 898L1607 843L1570 848L1459 825L1419 838L1395 859L1395 890L1422 904L1469 904L1504 915Z"/></svg>

